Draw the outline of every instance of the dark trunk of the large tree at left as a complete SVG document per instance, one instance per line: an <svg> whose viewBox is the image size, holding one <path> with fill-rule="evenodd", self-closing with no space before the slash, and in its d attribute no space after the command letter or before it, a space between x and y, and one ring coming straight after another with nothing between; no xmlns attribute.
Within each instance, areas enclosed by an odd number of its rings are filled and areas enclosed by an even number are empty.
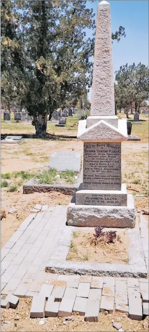
<svg viewBox="0 0 149 332"><path fill-rule="evenodd" d="M46 136L46 127L47 127L47 113L44 114L44 117L42 114L38 114L37 116L33 116L34 123L35 123L35 129L36 129L36 136L37 138L45 138Z"/></svg>

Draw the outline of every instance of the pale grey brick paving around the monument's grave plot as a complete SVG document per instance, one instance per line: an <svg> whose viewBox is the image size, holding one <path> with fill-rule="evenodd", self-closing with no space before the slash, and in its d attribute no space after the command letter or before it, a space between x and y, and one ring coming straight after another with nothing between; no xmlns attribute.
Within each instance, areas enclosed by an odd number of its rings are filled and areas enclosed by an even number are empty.
<svg viewBox="0 0 149 332"><path fill-rule="evenodd" d="M65 317L74 311L96 322L103 310L128 312L137 320L149 314L148 279L46 273L48 260L55 259L55 248L62 242L66 258L74 228L65 226L66 206L40 209L43 212L28 216L1 250L1 294L8 294L3 307L12 307L13 300L16 307L16 295L33 297L31 317ZM147 220L140 216L142 244L149 244L146 230ZM147 246L143 248L147 256Z"/></svg>

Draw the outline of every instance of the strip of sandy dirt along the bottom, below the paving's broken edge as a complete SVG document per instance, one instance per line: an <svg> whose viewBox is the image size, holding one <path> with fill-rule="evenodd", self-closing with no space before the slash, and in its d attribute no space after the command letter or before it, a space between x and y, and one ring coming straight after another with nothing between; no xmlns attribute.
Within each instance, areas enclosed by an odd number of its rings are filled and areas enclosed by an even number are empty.
<svg viewBox="0 0 149 332"><path fill-rule="evenodd" d="M113 322L118 322L122 325L125 332L147 332L149 330L149 317L142 321L135 321L128 318L126 313L113 312L112 314L100 313L98 323L89 323L84 321L83 316L74 315L74 321L65 321L63 317L60 318L29 318L31 307L31 299L20 299L19 305L16 309L1 309L1 331L20 331L20 332L114 332ZM4 324L4 321L10 324ZM44 321L40 325L40 321Z"/></svg>

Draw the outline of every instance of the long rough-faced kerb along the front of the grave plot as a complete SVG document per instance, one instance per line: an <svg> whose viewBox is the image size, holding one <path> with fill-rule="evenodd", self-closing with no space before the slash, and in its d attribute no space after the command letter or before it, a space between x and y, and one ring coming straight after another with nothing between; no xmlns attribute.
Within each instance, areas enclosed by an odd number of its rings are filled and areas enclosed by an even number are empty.
<svg viewBox="0 0 149 332"><path fill-rule="evenodd" d="M137 266L116 263L50 260L45 271L56 274L147 278L147 268L144 265Z"/></svg>

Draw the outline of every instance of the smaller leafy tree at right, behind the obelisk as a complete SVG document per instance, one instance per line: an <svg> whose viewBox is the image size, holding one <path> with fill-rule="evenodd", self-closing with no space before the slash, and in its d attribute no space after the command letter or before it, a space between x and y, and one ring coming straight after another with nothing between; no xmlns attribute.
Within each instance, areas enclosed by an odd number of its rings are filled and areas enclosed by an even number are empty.
<svg viewBox="0 0 149 332"><path fill-rule="evenodd" d="M149 98L149 70L148 67L139 63L121 66L116 72L117 86L115 98L118 98L119 105L130 107L135 103L135 111L139 110L141 102Z"/></svg>

